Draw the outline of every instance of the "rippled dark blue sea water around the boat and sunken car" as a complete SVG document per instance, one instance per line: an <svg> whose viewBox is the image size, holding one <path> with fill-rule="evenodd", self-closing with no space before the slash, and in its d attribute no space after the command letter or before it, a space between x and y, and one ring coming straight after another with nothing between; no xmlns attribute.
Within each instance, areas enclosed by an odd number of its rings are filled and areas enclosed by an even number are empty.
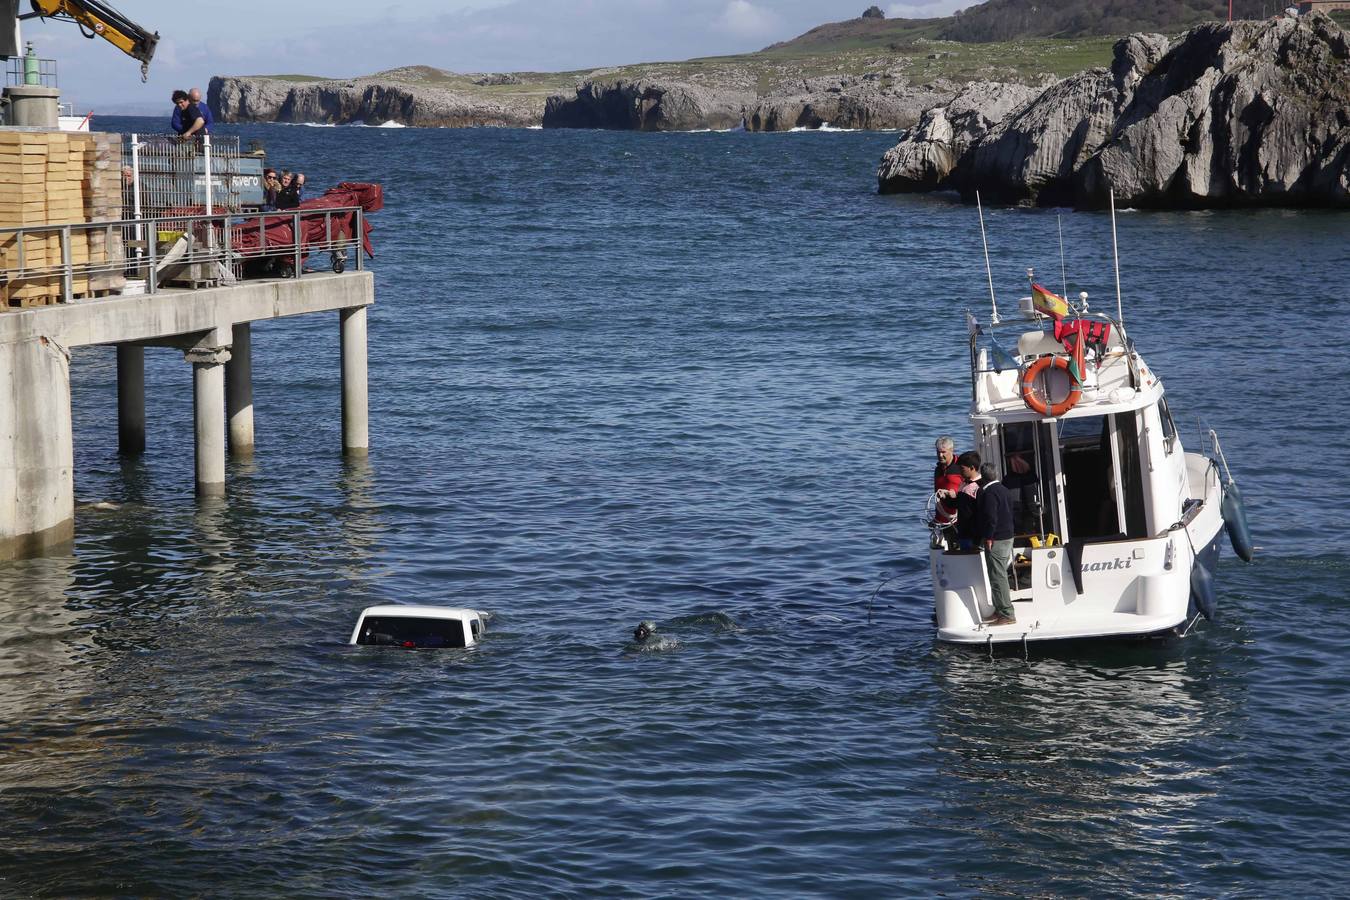
<svg viewBox="0 0 1350 900"><path fill-rule="evenodd" d="M1122 212L1126 324L1261 549L1183 644L991 661L934 642L919 524L979 223L876 194L895 135L221 131L385 186L371 456L336 316L255 325L224 503L181 354L122 460L74 352L74 549L0 565L0 891L1345 891L1345 213ZM986 224L1004 314L1027 267L1115 309L1108 216ZM375 603L493 619L346 646Z"/></svg>

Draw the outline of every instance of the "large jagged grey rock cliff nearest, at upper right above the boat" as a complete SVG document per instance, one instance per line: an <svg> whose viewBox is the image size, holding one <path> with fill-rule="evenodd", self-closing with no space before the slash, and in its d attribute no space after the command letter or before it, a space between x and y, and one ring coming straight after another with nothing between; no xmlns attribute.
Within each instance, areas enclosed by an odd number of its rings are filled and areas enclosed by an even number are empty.
<svg viewBox="0 0 1350 900"><path fill-rule="evenodd" d="M887 151L882 193L1000 202L1350 206L1350 40L1327 16L1134 35L1018 101L973 85Z"/></svg>

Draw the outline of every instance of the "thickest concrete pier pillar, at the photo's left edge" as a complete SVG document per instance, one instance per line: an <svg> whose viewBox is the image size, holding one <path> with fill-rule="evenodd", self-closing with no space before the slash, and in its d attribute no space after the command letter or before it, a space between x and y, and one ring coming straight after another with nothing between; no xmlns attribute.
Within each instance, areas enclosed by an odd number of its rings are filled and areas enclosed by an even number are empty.
<svg viewBox="0 0 1350 900"><path fill-rule="evenodd" d="M74 537L70 356L47 337L0 341L0 559Z"/></svg>

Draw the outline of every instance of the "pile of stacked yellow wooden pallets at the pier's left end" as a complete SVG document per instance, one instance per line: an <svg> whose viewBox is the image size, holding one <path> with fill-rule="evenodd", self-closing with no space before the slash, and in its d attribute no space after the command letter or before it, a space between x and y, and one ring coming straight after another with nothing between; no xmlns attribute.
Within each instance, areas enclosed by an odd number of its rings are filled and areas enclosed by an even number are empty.
<svg viewBox="0 0 1350 900"><path fill-rule="evenodd" d="M81 224L112 220L120 212L120 144L116 135L63 131L0 131L0 228ZM109 184L111 182L111 184ZM112 190L116 189L116 193ZM107 196L105 196L107 194ZM108 196L116 196L109 209ZM120 235L107 229L70 231L72 294L86 297L108 275L90 279L90 269L122 256ZM111 244L116 244L112 247ZM113 255L115 251L115 255ZM61 232L0 235L0 301L5 306L40 306L63 296ZM116 275L120 278L120 275Z"/></svg>

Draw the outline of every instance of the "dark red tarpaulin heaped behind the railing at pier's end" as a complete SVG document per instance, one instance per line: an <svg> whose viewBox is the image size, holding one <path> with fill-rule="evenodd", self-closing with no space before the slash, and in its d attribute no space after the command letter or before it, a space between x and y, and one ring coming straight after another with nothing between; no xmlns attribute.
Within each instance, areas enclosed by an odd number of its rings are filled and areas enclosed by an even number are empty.
<svg viewBox="0 0 1350 900"><path fill-rule="evenodd" d="M296 209L235 220L231 225L234 248L247 256L262 256L269 250L294 252L296 235L292 225L296 220L293 213L300 213L301 251L329 239L335 242L350 240L356 213L347 210L324 215L324 210L338 206L360 206L362 212L366 213L378 212L385 206L385 192L379 185L344 181L336 188L329 188L320 197L301 201ZM374 256L375 251L370 246L370 220L364 216L362 225L360 246L364 247L367 256Z"/></svg>

